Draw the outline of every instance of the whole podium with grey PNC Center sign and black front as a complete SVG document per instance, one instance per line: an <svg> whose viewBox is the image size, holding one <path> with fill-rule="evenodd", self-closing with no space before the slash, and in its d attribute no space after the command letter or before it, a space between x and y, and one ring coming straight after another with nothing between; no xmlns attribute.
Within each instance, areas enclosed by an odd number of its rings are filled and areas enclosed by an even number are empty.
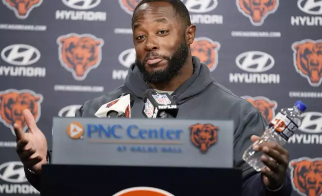
<svg viewBox="0 0 322 196"><path fill-rule="evenodd" d="M41 195L241 195L233 122L54 117Z"/></svg>

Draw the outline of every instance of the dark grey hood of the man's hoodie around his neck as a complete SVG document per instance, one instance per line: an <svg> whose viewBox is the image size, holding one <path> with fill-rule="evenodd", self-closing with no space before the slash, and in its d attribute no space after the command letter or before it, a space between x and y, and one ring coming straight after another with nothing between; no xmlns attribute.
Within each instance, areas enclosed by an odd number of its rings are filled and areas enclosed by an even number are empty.
<svg viewBox="0 0 322 196"><path fill-rule="evenodd" d="M198 57L192 56L192 63L194 66L193 74L176 88L171 95L176 104L181 104L193 96L196 96L214 81L207 65L201 63ZM144 91L151 88L151 86L143 80L141 73L134 63L131 64L128 69L124 85L139 98L143 98Z"/></svg>

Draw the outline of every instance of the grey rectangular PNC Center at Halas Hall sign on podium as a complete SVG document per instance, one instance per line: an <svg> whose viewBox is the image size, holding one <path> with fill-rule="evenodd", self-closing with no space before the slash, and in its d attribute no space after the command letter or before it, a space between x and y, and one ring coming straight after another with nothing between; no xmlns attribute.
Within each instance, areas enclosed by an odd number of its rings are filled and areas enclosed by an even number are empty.
<svg viewBox="0 0 322 196"><path fill-rule="evenodd" d="M53 164L233 166L233 123L54 117Z"/></svg>

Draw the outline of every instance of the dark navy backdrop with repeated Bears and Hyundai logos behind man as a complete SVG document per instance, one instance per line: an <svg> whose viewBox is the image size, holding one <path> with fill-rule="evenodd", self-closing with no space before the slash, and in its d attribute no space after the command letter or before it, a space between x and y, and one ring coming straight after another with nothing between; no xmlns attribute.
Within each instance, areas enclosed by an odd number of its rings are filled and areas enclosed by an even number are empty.
<svg viewBox="0 0 322 196"><path fill-rule="evenodd" d="M122 84L135 59L130 21L139 1L0 1L1 195L38 194L15 152L12 123L22 109L51 146L53 116L72 116ZM182 1L197 26L192 54L216 81L268 121L296 100L307 105L286 145L293 195L322 195L322 0Z"/></svg>

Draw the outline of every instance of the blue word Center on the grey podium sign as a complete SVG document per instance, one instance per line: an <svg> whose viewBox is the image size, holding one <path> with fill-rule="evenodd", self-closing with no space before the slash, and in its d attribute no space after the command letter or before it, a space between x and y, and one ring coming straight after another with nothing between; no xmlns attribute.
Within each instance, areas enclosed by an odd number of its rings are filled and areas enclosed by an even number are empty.
<svg viewBox="0 0 322 196"><path fill-rule="evenodd" d="M137 125L129 125L126 129L127 135L132 139L161 139L161 140L179 140L182 129L159 129L139 128Z"/></svg>

